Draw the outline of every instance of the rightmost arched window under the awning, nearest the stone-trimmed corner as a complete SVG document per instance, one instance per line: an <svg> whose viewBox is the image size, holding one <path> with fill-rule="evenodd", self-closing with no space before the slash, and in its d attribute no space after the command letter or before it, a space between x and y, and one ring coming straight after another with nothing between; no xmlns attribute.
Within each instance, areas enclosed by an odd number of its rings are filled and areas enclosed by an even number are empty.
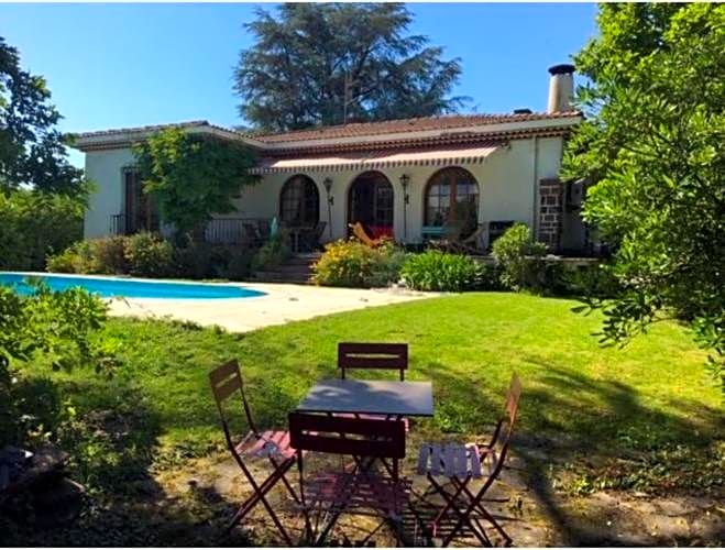
<svg viewBox="0 0 725 550"><path fill-rule="evenodd" d="M479 219L479 184L463 168L443 168L431 176L426 189L426 226L458 226L463 237Z"/></svg>

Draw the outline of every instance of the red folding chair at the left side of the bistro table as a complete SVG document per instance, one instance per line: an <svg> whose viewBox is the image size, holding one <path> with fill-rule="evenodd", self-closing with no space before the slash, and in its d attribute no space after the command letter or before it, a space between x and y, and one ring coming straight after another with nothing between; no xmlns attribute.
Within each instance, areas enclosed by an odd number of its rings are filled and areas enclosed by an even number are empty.
<svg viewBox="0 0 725 550"><path fill-rule="evenodd" d="M279 518L275 514L274 508L270 505L270 502L266 497L267 493L270 493L270 491L277 484L277 482L281 481L292 497L295 499L295 502L301 504L297 493L285 477L286 472L294 465L295 458L297 457L297 452L289 444L289 433L287 431L259 431L256 429L254 420L252 419L252 413L250 410L249 403L246 400L246 395L244 394L244 383L239 370L239 363L235 360L215 369L209 373L209 380L211 381L211 389L217 402L217 407L219 408L221 426L224 430L227 446L229 447L232 457L239 464L239 468L242 470L244 476L254 490L252 495L246 501L244 501L237 514L234 514L234 517L227 527L226 532L229 532L235 525L244 519L244 517L254 508L254 506L261 502L270 514L270 517L272 518L274 525L277 527L279 534L285 539L285 542L292 546L292 538L282 526ZM226 402L234 395L239 395L241 399L241 405L250 429L246 436L244 436L241 440L235 440L233 437L229 427L228 415L224 407ZM245 465L244 461L264 459L270 462L272 466L272 473L262 483L257 483Z"/></svg>

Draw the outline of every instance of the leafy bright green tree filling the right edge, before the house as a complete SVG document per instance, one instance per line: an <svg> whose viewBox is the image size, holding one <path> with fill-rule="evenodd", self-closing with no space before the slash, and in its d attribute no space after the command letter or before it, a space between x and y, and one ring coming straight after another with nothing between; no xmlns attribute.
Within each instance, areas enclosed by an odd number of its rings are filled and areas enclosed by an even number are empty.
<svg viewBox="0 0 725 550"><path fill-rule="evenodd" d="M725 389L725 6L603 4L597 23L564 176L595 183L584 216L616 249L604 338L684 319Z"/></svg>

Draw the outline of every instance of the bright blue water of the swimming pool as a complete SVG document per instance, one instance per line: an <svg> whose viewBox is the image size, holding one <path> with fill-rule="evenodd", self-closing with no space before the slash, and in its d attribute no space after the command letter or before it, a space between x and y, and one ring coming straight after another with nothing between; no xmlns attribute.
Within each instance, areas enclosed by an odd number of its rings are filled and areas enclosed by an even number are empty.
<svg viewBox="0 0 725 550"><path fill-rule="evenodd" d="M215 298L252 298L265 293L237 285L215 285L210 283L171 283L163 280L138 280L113 277L88 277L66 275L35 275L29 273L0 273L0 285L12 286L20 294L33 290L23 282L26 277L43 279L53 290L63 290L80 286L102 298L123 296L124 298L174 298L174 299L215 299Z"/></svg>

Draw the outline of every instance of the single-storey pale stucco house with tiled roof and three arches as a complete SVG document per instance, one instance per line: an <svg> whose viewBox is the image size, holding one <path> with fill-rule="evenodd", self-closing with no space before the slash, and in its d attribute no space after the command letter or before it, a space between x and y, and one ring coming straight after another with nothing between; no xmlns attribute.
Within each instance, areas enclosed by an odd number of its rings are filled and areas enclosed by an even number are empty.
<svg viewBox="0 0 725 550"><path fill-rule="evenodd" d="M510 223L529 224L554 252L579 252L587 232L581 189L562 185L564 141L582 116L572 109L571 65L549 69L547 112L455 114L349 123L277 134L245 134L206 121L171 124L186 132L238 140L257 152L261 184L244 188L237 212L216 217L207 239L244 239L244 224L276 217L288 227L316 226L322 241L344 238L362 222L373 235L415 244L458 223L481 227L487 248ZM168 125L77 136L98 190L85 237L156 230L163 222L141 191L132 145Z"/></svg>

